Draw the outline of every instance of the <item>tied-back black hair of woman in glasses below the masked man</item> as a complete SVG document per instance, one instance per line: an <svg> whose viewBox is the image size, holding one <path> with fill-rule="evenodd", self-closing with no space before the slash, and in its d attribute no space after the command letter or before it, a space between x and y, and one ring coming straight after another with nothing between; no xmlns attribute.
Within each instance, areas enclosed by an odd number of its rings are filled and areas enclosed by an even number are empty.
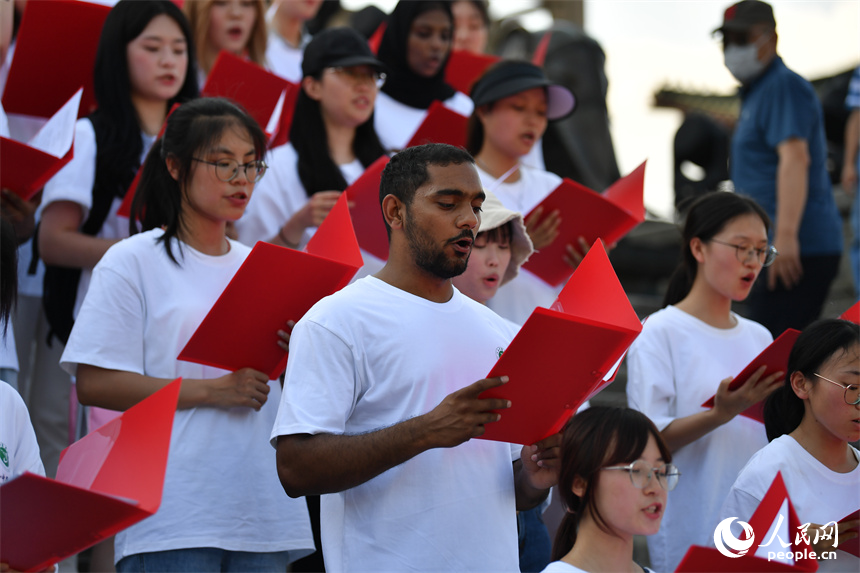
<svg viewBox="0 0 860 573"><path fill-rule="evenodd" d="M698 238L703 243L707 242L719 234L733 219L748 214L758 216L764 223L765 231L770 229L770 217L764 209L743 195L714 191L690 204L682 231L681 262L669 279L663 306L681 302L693 288L699 265L690 249L690 241Z"/></svg>

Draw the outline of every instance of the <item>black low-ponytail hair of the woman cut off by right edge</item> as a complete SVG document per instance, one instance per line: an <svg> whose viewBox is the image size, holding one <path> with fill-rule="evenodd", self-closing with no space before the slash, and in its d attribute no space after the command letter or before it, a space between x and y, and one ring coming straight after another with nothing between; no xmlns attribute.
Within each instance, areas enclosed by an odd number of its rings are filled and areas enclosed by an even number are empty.
<svg viewBox="0 0 860 573"><path fill-rule="evenodd" d="M791 387L791 375L800 372L812 384L815 373L837 352L849 352L860 342L860 326L847 320L825 319L807 326L791 349L785 383L764 403L764 427L770 442L793 432L803 420L804 405Z"/></svg>

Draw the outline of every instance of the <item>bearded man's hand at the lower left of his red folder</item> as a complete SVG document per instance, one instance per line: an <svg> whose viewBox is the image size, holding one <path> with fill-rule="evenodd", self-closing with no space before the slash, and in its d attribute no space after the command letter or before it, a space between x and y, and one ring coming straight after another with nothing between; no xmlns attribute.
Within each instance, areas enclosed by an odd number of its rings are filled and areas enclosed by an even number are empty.
<svg viewBox="0 0 860 573"><path fill-rule="evenodd" d="M508 381L507 376L484 378L445 396L445 399L424 414L428 434L434 448L453 448L484 433L484 425L497 422L502 416L493 410L510 408L509 400L478 398L490 388Z"/></svg>

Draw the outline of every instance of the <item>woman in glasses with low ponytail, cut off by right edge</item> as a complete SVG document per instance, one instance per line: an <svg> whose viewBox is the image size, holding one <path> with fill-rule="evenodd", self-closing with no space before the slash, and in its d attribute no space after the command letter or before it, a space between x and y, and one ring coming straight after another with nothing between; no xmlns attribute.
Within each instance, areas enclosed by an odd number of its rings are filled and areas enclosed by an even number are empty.
<svg viewBox="0 0 860 573"><path fill-rule="evenodd" d="M821 556L818 570L860 570L852 554L823 556L834 551L835 536L821 539L819 530L814 542L819 526L833 533L831 522L860 509L860 451L850 443L860 440L860 326L828 319L806 327L789 355L784 383L765 402L764 421L770 443L738 475L721 519L749 521L780 472L800 523L811 524L809 550ZM858 525L854 519L838 526L839 545L857 537ZM766 532L755 533L767 542ZM794 534L783 541L793 543Z"/></svg>

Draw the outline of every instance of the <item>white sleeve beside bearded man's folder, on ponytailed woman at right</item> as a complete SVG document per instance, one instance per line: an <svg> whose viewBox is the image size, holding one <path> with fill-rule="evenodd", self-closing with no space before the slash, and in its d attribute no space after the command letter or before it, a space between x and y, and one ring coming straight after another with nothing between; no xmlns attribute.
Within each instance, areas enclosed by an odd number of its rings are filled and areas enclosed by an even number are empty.
<svg viewBox="0 0 860 573"><path fill-rule="evenodd" d="M675 376L668 341L645 323L627 354L627 403L663 430L677 415Z"/></svg>

